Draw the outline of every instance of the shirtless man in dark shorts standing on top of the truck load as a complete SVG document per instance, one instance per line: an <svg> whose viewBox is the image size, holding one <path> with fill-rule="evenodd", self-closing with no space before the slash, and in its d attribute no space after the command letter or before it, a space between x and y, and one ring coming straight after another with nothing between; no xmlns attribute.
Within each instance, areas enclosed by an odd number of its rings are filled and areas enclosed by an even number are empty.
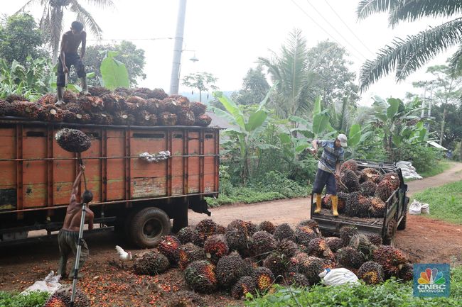
<svg viewBox="0 0 462 307"><path fill-rule="evenodd" d="M80 57L77 54L77 49L82 43L80 48ZM62 106L63 93L65 86L65 74L69 73L69 69L74 65L77 70L77 76L82 81L82 91L84 94L88 93L87 86L87 73L85 72L85 66L82 63L83 57L85 56L85 48L87 46L87 33L83 30L83 24L79 21L74 21L70 27L70 31L63 34L61 39L61 50L58 62L58 79L56 80L56 86L58 87L58 102L56 106Z"/></svg>

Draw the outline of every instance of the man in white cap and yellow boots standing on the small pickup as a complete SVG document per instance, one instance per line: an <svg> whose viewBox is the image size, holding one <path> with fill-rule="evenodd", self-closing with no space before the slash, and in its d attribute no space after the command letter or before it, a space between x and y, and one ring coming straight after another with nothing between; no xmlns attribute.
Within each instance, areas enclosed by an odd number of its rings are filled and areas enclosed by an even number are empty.
<svg viewBox="0 0 462 307"><path fill-rule="evenodd" d="M335 176L340 175L340 165L343 162L344 150L347 147L347 137L340 133L334 140L313 140L313 152L318 152L318 147L324 148L321 161L318 162L318 172L313 184L313 194L316 196L316 210L321 212L321 193L326 186L326 194L331 195L333 216L338 216L338 197ZM335 173L335 175L334 175Z"/></svg>

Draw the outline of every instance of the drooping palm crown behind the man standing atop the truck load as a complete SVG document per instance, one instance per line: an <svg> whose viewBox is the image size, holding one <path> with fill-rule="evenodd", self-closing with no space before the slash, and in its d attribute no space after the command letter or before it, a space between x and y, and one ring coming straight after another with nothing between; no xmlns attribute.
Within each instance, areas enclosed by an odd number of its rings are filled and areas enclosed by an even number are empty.
<svg viewBox="0 0 462 307"><path fill-rule="evenodd" d="M101 8L114 7L112 0L87 0L87 2L100 6ZM45 40L50 44L53 50L53 63L58 60L60 36L63 32L64 10L68 9L68 6L69 10L75 13L77 21L87 26L97 38L102 38L100 26L98 26L90 12L79 4L78 0L29 0L20 11L24 11L24 9L31 4L38 3L43 6L40 28L45 35Z"/></svg>

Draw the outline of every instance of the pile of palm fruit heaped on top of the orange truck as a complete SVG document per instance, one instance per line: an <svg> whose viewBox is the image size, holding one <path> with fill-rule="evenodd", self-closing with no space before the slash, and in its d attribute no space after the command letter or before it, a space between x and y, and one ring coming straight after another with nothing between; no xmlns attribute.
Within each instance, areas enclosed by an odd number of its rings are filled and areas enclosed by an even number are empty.
<svg viewBox="0 0 462 307"><path fill-rule="evenodd" d="M55 106L55 94L37 101L10 95L0 100L0 116L16 116L33 121L92 123L96 125L198 125L212 121L206 106L181 95L168 96L163 89L124 89L109 91L95 86L90 94L65 91L63 106Z"/></svg>

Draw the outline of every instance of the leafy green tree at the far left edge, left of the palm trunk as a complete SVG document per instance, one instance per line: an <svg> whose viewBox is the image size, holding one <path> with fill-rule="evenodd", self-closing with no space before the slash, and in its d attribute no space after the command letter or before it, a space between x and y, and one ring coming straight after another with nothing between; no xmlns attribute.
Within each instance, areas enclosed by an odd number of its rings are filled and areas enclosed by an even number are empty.
<svg viewBox="0 0 462 307"><path fill-rule="evenodd" d="M45 56L41 50L43 38L36 21L27 13L17 13L0 22L0 58L8 65L16 60L26 65L28 56Z"/></svg>

